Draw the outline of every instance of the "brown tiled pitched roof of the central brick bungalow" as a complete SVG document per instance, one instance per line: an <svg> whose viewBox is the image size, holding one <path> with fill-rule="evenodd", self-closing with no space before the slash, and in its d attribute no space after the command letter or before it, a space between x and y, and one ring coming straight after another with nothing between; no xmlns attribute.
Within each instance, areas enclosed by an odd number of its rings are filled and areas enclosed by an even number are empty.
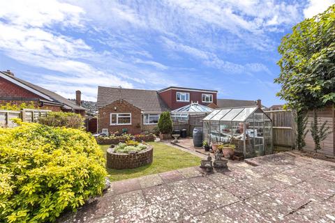
<svg viewBox="0 0 335 223"><path fill-rule="evenodd" d="M121 89L105 86L98 87L96 107L104 107L119 99L126 100L135 107L141 109L144 113L161 113L170 111L170 108L158 95L157 91Z"/></svg>

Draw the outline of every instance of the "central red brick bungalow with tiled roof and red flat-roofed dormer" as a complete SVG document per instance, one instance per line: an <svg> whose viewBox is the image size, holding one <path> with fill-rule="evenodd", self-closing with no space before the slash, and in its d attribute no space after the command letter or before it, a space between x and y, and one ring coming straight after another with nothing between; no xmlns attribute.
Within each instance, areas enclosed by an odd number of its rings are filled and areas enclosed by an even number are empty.
<svg viewBox="0 0 335 223"><path fill-rule="evenodd" d="M199 102L216 103L217 91L169 87L160 91L98 87L98 132L151 131L162 112Z"/></svg>

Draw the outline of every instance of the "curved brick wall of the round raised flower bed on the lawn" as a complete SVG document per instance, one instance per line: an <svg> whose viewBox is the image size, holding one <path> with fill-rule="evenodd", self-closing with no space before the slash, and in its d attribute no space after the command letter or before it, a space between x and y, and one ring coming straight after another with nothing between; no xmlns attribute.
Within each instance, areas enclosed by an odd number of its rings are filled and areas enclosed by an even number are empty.
<svg viewBox="0 0 335 223"><path fill-rule="evenodd" d="M131 169L141 167L152 162L153 148L138 153L114 153L114 148L107 149L107 167L112 169Z"/></svg>

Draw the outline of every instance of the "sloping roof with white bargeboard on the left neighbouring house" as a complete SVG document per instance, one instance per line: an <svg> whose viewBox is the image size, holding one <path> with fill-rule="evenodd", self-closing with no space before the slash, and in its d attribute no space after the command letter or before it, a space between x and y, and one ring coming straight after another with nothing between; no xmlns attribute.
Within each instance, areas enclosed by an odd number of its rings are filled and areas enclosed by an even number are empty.
<svg viewBox="0 0 335 223"><path fill-rule="evenodd" d="M36 95L39 95L42 98L45 98L45 100L40 100L41 102L49 102L50 104L61 105L61 107L68 110L70 109L86 110L84 109L84 107L76 105L75 103L71 102L70 100L62 97L57 93L54 93L47 89L43 89L40 86L26 82L23 79L17 78L13 75L9 75L7 72L0 71L0 77L3 77L8 81L23 87L24 89L27 89L27 91L31 91L32 93L35 93Z"/></svg>

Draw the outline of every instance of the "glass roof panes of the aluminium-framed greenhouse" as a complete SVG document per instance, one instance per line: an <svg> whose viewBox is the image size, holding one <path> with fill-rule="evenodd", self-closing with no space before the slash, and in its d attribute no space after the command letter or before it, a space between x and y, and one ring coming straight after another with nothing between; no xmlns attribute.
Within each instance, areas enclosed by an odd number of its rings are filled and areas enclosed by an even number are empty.
<svg viewBox="0 0 335 223"><path fill-rule="evenodd" d="M203 121L245 121L248 116L260 110L258 107L233 107L230 109L216 109L206 116Z"/></svg>

